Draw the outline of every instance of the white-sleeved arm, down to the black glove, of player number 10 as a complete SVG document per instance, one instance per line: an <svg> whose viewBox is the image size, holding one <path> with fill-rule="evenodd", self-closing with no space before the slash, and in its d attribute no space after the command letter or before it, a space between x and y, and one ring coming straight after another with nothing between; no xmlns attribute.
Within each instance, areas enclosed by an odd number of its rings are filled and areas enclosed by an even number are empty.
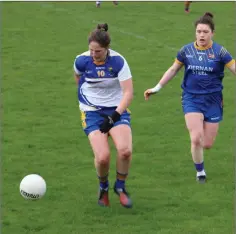
<svg viewBox="0 0 236 234"><path fill-rule="evenodd" d="M116 111L119 114L122 114L130 105L133 99L132 75L131 75L129 65L125 59L124 59L124 65L121 71L118 73L118 79L120 81L120 86L121 86L123 95L122 95L119 105L116 108Z"/></svg>

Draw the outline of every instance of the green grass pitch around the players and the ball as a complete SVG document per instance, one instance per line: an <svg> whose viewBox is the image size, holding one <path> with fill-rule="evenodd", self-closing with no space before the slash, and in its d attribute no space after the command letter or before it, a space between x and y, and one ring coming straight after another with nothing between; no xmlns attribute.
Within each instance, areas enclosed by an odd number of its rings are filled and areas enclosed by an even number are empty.
<svg viewBox="0 0 236 234"><path fill-rule="evenodd" d="M229 234L233 233L235 77L226 71L225 114L212 150L209 181L196 184L185 129L183 72L149 102L152 87L178 49L194 40L193 22L215 14L215 40L234 52L233 2L2 3L2 232L4 234ZM128 189L131 210L111 193L97 206L93 155L82 131L72 65L87 50L88 33L107 22L112 48L131 67L134 154ZM111 184L115 178L112 148ZM46 196L24 200L20 180L39 173Z"/></svg>

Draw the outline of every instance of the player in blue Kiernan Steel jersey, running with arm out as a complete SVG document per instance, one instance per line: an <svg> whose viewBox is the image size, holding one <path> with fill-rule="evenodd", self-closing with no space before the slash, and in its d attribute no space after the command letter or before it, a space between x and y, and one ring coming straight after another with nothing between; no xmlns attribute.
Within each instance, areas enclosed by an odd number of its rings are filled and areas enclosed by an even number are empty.
<svg viewBox="0 0 236 234"><path fill-rule="evenodd" d="M203 149L212 147L223 118L222 80L225 66L236 75L235 60L221 45L212 41L213 15L205 13L195 22L196 41L183 46L174 64L159 83L144 92L146 100L166 85L184 66L182 107L191 139L191 153L197 180L204 183Z"/></svg>

